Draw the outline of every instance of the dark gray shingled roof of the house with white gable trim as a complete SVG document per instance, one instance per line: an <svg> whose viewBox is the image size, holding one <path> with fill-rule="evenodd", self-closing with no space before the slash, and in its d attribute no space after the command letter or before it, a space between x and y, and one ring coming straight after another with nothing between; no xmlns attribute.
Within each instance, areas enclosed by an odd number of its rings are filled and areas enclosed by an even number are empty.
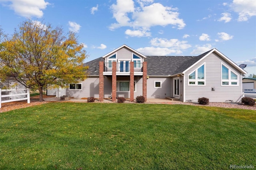
<svg viewBox="0 0 256 170"><path fill-rule="evenodd" d="M216 48L211 49L198 56L145 56L124 44L118 47L117 49L111 51L110 53L107 53L103 57L84 63L84 66L89 66L89 69L87 70L88 75L99 75L99 62L104 61L104 57L110 56L119 49L124 47L130 49L135 54L144 57L144 61L147 61L148 67L147 75L174 76L177 74L185 73L211 53L216 53L222 59L230 63L230 65L238 69L241 73L247 73L242 68L240 68L236 63L234 63L228 57L226 57L220 51L218 51Z"/></svg>

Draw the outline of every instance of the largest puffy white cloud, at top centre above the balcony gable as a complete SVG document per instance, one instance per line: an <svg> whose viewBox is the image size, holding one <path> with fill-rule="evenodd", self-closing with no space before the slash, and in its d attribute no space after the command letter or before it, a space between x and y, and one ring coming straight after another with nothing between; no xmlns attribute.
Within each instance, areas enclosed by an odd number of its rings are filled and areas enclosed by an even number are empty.
<svg viewBox="0 0 256 170"><path fill-rule="evenodd" d="M163 6L160 3L150 4L152 2L153 0L139 0L140 6L136 7L133 0L117 0L117 3L111 6L116 23L111 24L109 29L132 27L134 30L146 32L152 26L172 25L178 29L186 26L179 18L177 8ZM131 35L134 36L134 34Z"/></svg>

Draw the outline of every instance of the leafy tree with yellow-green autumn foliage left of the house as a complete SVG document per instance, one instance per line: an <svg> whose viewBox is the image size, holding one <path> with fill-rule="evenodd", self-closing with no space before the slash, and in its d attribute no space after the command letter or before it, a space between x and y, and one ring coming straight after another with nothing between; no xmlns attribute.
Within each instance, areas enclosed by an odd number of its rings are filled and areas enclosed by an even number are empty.
<svg viewBox="0 0 256 170"><path fill-rule="evenodd" d="M62 27L53 29L51 24L28 19L0 43L1 81L14 77L24 86L38 90L42 102L48 85L66 87L86 79L86 57L74 32L64 35Z"/></svg>

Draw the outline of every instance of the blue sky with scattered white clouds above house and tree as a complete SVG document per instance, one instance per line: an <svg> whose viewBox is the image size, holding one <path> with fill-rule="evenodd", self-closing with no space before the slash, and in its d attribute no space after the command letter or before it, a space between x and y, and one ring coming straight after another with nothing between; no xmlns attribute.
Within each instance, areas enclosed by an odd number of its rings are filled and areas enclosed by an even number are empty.
<svg viewBox="0 0 256 170"><path fill-rule="evenodd" d="M217 48L256 74L256 0L0 0L5 33L26 18L76 32L86 62L123 44L144 55Z"/></svg>

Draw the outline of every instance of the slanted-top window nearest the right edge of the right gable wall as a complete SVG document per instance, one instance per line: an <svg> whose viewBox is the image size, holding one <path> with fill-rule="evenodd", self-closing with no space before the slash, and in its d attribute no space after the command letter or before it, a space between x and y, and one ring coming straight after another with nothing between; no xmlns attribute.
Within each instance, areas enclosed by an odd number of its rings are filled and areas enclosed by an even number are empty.
<svg viewBox="0 0 256 170"><path fill-rule="evenodd" d="M223 64L221 65L221 85L238 85L238 75Z"/></svg>

